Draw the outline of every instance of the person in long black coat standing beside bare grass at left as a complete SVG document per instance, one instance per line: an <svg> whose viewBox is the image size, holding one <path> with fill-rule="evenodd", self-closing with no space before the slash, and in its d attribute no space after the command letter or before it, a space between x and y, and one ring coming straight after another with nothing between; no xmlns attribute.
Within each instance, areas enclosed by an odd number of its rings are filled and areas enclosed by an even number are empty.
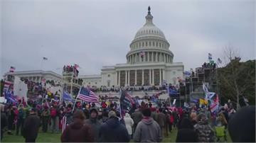
<svg viewBox="0 0 256 143"><path fill-rule="evenodd" d="M25 138L25 142L36 142L39 127L40 118L36 114L36 110L32 108L23 125L23 137Z"/></svg>

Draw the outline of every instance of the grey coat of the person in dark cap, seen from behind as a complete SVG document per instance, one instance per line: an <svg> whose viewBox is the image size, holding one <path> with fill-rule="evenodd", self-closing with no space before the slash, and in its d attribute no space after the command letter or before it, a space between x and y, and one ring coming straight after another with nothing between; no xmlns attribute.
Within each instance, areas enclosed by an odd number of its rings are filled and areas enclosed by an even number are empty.
<svg viewBox="0 0 256 143"><path fill-rule="evenodd" d="M145 118L139 122L134 133L134 142L161 142L161 140L161 128L153 118Z"/></svg>

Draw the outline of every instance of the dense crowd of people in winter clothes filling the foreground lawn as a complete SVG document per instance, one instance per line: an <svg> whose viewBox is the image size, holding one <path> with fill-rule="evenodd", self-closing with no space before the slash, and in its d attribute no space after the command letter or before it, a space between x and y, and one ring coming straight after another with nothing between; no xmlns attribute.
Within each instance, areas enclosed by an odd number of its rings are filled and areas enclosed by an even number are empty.
<svg viewBox="0 0 256 143"><path fill-rule="evenodd" d="M41 129L62 132L61 142L161 142L174 128L176 142L226 141L227 131L233 142L255 142L255 106L236 111L226 104L218 113L210 113L207 107L153 106L150 101L132 110L104 101L99 105L80 102L74 108L72 103L55 101L1 104L1 139L6 131L35 142Z"/></svg>

